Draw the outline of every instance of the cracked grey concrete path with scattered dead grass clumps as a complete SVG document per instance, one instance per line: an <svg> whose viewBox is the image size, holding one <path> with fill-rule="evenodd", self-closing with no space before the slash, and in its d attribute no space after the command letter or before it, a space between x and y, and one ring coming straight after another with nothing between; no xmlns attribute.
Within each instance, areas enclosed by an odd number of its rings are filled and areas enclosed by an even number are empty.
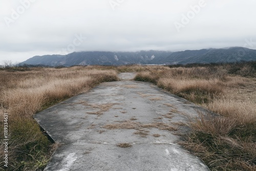
<svg viewBox="0 0 256 171"><path fill-rule="evenodd" d="M101 83L35 115L61 143L45 170L208 170L182 146L186 116L203 110L151 83Z"/></svg>

